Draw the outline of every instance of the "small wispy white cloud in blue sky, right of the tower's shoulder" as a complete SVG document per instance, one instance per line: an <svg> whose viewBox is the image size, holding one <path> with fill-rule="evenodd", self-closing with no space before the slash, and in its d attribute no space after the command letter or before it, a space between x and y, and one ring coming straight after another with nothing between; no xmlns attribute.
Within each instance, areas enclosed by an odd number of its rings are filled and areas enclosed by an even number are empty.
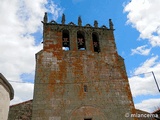
<svg viewBox="0 0 160 120"><path fill-rule="evenodd" d="M139 46L136 49L131 49L132 53L131 55L134 54L140 54L140 55L148 55L151 51L151 48L146 48L147 45Z"/></svg>

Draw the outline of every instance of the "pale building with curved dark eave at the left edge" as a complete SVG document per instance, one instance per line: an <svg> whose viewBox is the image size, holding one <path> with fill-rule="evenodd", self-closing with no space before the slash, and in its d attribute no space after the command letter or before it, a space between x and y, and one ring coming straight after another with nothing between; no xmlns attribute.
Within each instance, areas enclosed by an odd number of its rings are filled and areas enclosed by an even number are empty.
<svg viewBox="0 0 160 120"><path fill-rule="evenodd" d="M10 100L14 97L11 84L0 73L0 120L7 120Z"/></svg>

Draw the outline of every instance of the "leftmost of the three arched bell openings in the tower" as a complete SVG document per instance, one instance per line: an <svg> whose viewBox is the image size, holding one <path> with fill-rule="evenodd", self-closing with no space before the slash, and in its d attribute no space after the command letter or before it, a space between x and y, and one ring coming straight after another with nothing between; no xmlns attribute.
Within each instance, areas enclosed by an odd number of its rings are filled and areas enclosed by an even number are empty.
<svg viewBox="0 0 160 120"><path fill-rule="evenodd" d="M63 30L63 33L62 33L62 49L64 51L70 50L70 40L69 40L68 30Z"/></svg>

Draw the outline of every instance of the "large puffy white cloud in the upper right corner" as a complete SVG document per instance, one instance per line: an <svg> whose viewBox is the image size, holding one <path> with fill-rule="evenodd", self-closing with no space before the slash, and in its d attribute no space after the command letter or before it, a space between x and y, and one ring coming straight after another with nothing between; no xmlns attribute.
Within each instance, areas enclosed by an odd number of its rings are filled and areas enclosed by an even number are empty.
<svg viewBox="0 0 160 120"><path fill-rule="evenodd" d="M128 24L140 32L141 39L148 39L150 44L160 46L160 0L132 0L124 12L128 12Z"/></svg>

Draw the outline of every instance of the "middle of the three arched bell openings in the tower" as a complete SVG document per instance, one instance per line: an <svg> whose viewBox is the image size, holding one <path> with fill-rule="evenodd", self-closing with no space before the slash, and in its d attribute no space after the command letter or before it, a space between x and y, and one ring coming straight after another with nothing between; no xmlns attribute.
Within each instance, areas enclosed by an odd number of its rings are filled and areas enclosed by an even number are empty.
<svg viewBox="0 0 160 120"><path fill-rule="evenodd" d="M77 32L78 50L86 50L84 32Z"/></svg>

